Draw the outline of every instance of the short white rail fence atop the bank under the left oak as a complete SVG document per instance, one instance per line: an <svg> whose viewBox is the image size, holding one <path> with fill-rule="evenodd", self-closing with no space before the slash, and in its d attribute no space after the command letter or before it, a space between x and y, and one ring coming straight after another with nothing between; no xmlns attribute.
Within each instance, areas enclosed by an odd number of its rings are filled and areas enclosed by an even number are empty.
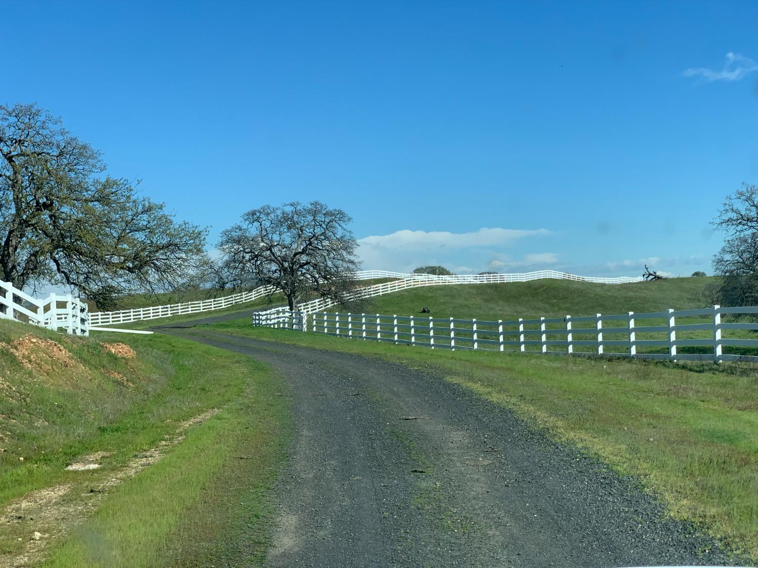
<svg viewBox="0 0 758 568"><path fill-rule="evenodd" d="M71 295L51 294L38 299L14 288L10 282L0 282L0 306L0 318L5 320L65 329L70 335L89 335L87 306Z"/></svg>

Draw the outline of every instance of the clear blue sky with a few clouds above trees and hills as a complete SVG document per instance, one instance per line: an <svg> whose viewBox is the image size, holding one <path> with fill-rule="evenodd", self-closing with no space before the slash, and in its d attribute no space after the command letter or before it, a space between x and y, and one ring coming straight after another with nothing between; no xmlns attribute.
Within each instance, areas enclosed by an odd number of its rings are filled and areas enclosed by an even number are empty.
<svg viewBox="0 0 758 568"><path fill-rule="evenodd" d="M710 273L758 183L758 2L8 2L36 101L211 226L319 199L365 268ZM731 54L731 55L728 55Z"/></svg>

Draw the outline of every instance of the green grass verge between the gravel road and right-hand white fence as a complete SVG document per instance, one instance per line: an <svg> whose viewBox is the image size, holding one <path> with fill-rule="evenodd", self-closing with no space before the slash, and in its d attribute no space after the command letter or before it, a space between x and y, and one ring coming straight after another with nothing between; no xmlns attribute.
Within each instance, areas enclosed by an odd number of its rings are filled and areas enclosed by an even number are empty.
<svg viewBox="0 0 758 568"><path fill-rule="evenodd" d="M246 319L198 331L384 357L440 373L637 476L672 515L700 523L731 547L758 557L753 364L432 351L253 328Z"/></svg>

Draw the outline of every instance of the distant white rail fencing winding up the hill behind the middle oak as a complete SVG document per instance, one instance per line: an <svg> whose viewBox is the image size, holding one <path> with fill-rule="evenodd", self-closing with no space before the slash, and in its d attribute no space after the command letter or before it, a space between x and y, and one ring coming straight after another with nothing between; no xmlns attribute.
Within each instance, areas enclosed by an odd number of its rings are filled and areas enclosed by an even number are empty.
<svg viewBox="0 0 758 568"><path fill-rule="evenodd" d="M357 280L373 280L382 278L396 279L394 282L384 282L374 286L356 289L353 296L360 295L364 298L398 292L417 286L440 286L443 284L488 284L496 282L528 282L543 278L574 280L576 282L597 282L600 284L626 284L640 282L642 276L630 277L619 276L618 278L595 278L593 276L576 276L556 270L539 270L537 272L515 274L468 274L455 276L436 276L433 274L415 274L390 272L388 270L362 270L355 273ZM391 286L390 286L391 285ZM250 292L242 292L209 300L189 301L180 304L164 306L137 307L132 310L93 312L92 326L109 326L115 323L128 323L139 320L155 320L159 317L168 317L178 314L195 314L203 311L219 310L234 304L244 304L249 301L262 298L271 293L271 286L262 286ZM321 311L334 305L333 301L317 299L305 302L299 306L302 311Z"/></svg>

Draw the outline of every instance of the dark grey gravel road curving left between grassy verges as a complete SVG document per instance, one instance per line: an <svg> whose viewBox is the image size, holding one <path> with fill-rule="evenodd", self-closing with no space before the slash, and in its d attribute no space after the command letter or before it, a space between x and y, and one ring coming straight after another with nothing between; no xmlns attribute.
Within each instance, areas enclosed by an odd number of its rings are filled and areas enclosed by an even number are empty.
<svg viewBox="0 0 758 568"><path fill-rule="evenodd" d="M162 331L265 361L291 385L295 438L268 566L728 563L633 479L424 370Z"/></svg>

